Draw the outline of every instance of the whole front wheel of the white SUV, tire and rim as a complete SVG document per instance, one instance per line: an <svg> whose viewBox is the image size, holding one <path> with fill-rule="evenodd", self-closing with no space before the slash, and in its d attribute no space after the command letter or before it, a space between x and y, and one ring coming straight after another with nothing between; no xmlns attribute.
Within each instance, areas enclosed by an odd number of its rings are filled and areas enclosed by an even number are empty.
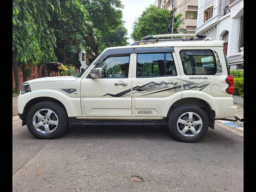
<svg viewBox="0 0 256 192"><path fill-rule="evenodd" d="M26 116L28 130L36 138L59 137L68 127L66 110L58 103L44 101L30 108Z"/></svg>

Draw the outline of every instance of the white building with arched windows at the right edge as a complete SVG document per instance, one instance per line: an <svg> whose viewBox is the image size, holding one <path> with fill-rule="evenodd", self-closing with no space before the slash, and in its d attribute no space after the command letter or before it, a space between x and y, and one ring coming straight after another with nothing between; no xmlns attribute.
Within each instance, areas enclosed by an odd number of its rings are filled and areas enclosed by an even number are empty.
<svg viewBox="0 0 256 192"><path fill-rule="evenodd" d="M198 0L196 33L225 40L230 69L244 68L244 0Z"/></svg>

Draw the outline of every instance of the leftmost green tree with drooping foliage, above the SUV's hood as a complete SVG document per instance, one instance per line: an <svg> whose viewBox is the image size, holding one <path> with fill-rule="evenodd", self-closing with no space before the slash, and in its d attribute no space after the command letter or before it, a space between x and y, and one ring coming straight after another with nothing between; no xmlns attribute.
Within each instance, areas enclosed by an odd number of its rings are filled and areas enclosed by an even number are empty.
<svg viewBox="0 0 256 192"><path fill-rule="evenodd" d="M12 66L17 91L20 90L19 66L26 80L27 68L55 60L56 38L48 22L50 13L57 11L59 5L59 0L13 0Z"/></svg>

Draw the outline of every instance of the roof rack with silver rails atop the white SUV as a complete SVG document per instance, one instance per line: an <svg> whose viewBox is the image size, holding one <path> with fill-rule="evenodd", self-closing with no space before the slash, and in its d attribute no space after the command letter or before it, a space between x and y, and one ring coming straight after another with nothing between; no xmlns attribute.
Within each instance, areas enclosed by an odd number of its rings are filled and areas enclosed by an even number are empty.
<svg viewBox="0 0 256 192"><path fill-rule="evenodd" d="M166 38L166 37L190 37L190 38L172 38L172 39L158 39L158 38ZM194 38L197 37L197 38ZM157 38L157 39L154 39ZM142 37L141 41L133 42L130 45L144 45L144 44L152 44L158 42L170 42L170 41L193 41L193 40L212 40L212 38L208 38L202 34L160 34L160 35L150 35Z"/></svg>

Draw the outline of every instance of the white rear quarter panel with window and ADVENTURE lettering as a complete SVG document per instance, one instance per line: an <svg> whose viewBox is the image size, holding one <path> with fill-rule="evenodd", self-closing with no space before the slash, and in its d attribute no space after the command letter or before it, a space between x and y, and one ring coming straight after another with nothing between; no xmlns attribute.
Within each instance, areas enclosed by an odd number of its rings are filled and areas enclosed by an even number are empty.
<svg viewBox="0 0 256 192"><path fill-rule="evenodd" d="M183 82L182 98L197 98L199 93L213 97L230 96L226 93L228 84L222 47L179 47L180 72ZM220 55L218 53L221 53ZM200 95L202 95L200 94ZM207 96L207 95L205 95Z"/></svg>

